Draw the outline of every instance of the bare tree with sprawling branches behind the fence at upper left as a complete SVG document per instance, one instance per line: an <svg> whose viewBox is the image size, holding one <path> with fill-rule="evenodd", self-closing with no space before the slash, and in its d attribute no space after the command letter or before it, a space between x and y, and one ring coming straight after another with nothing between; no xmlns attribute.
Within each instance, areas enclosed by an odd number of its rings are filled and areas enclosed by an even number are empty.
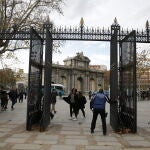
<svg viewBox="0 0 150 150"><path fill-rule="evenodd" d="M62 14L64 0L0 0L0 32L15 33L29 29L41 29L45 18L52 11ZM28 41L0 40L0 54L28 47Z"/></svg>

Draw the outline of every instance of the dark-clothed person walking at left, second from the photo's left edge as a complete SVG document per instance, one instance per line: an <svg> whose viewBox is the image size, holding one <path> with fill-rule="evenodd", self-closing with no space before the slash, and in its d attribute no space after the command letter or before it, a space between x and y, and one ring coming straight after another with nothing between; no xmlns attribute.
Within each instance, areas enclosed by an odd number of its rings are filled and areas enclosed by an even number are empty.
<svg viewBox="0 0 150 150"><path fill-rule="evenodd" d="M9 92L9 99L12 102L11 110L14 110L14 105L17 102L17 97L18 97L17 89L15 87L13 87Z"/></svg>

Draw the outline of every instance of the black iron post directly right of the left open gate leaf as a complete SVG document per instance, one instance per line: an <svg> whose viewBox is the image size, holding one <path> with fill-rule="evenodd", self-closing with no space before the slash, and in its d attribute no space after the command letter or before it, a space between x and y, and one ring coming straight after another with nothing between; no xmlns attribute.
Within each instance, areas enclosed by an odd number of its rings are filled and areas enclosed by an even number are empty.
<svg viewBox="0 0 150 150"><path fill-rule="evenodd" d="M44 99L43 115L40 130L44 131L50 123L50 104L51 104L51 76L52 76L52 34L46 29L46 48L45 48L45 67L44 67Z"/></svg>

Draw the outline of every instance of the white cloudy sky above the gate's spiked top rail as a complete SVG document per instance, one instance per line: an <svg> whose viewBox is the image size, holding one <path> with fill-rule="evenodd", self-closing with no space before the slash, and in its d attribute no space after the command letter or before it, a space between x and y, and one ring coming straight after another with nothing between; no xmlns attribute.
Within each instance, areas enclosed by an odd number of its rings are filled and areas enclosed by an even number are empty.
<svg viewBox="0 0 150 150"><path fill-rule="evenodd" d="M52 18L55 17L57 25L79 25L80 18L84 17L87 26L110 27L117 17L122 27L137 28L139 24L144 27L149 18L149 6L149 0L67 0L64 16L55 14Z"/></svg>

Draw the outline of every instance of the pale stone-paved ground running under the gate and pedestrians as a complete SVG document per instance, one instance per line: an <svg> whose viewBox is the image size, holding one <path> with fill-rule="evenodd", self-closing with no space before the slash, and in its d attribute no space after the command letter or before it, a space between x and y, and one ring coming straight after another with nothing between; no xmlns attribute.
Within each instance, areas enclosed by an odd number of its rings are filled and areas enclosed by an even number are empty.
<svg viewBox="0 0 150 150"><path fill-rule="evenodd" d="M78 121L69 120L69 106L57 100L57 113L45 132L38 128L26 131L26 100L17 103L15 110L0 113L0 150L150 150L150 101L138 102L138 133L117 134L109 125L108 133L102 135L100 117L95 133L90 134L92 113L89 101L86 118L79 113ZM109 112L109 105L107 104Z"/></svg>

